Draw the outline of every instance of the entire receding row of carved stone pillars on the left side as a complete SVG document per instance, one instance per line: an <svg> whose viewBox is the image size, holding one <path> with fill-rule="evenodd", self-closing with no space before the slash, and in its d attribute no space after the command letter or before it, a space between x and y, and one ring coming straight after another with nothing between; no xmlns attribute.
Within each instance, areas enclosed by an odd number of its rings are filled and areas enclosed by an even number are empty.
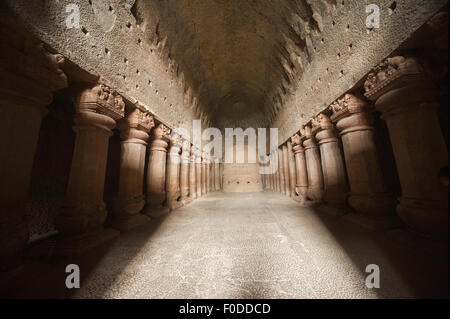
<svg viewBox="0 0 450 319"><path fill-rule="evenodd" d="M0 146L3 268L17 262L28 241L24 202L41 121L52 92L68 86L61 69L62 56L51 54L39 43L26 43L25 49L7 43L2 57L14 55L17 59L2 64L5 67L0 74L0 115L5 119L0 128L4 140ZM148 221L149 216L220 189L219 159L201 153L163 124L154 127L149 113L126 107L116 91L96 84L74 86L71 92L75 96L76 141L66 201L55 219L59 231L52 248L55 254L82 252L117 235L117 230L129 230ZM121 138L120 180L118 196L107 212L103 192L114 128L120 130ZM105 228L105 222L111 228Z"/></svg>

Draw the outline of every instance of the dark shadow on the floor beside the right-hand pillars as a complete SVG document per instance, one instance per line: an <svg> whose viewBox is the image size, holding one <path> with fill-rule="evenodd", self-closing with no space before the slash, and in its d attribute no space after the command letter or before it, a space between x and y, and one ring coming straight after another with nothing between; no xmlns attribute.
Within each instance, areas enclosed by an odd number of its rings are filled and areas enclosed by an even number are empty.
<svg viewBox="0 0 450 319"><path fill-rule="evenodd" d="M375 290L380 297L398 298L393 286L401 280L413 295L402 297L448 298L448 241L424 238L402 227L372 231L318 208L312 210L363 276L369 275L369 264L379 266L381 282ZM361 236L368 240L365 247L358 245Z"/></svg>

